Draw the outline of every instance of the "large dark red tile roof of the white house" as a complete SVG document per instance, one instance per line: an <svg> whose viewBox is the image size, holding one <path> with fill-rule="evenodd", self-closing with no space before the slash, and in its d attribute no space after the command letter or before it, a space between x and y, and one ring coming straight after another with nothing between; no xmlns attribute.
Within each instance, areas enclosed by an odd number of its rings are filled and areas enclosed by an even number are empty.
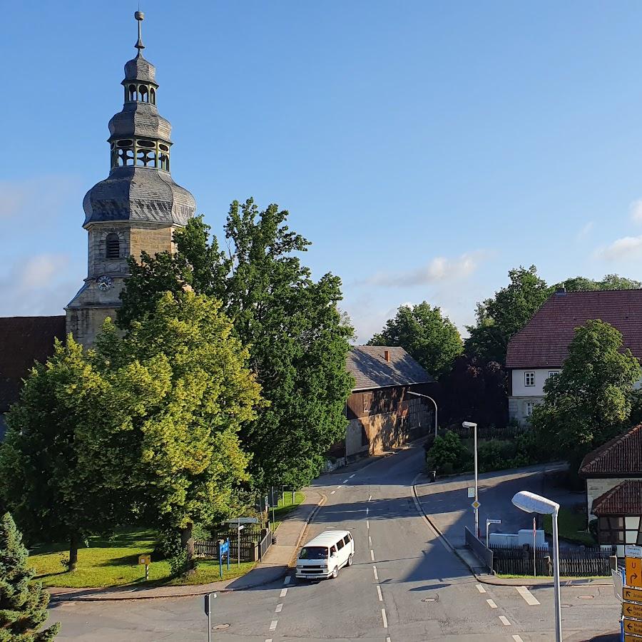
<svg viewBox="0 0 642 642"><path fill-rule="evenodd" d="M575 328L589 319L616 327L622 333L623 347L642 358L642 290L556 292L511 338L506 367L560 368Z"/></svg>

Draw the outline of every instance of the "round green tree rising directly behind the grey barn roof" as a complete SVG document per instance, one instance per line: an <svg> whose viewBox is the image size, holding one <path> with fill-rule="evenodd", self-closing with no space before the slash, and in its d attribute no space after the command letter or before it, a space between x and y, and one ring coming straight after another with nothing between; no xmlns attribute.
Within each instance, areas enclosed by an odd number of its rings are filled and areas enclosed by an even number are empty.
<svg viewBox="0 0 642 642"><path fill-rule="evenodd" d="M394 319L368 345L399 345L436 377L449 372L464 351L462 337L439 307L429 303L402 305Z"/></svg>

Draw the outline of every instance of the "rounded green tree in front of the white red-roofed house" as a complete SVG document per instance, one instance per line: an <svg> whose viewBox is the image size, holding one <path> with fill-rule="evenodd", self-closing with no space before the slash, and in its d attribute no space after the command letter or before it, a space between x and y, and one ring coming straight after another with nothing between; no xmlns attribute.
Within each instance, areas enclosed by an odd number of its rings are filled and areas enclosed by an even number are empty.
<svg viewBox="0 0 642 642"><path fill-rule="evenodd" d="M546 380L531 423L559 454L579 458L626 427L641 375L621 333L589 320L576 328L560 374Z"/></svg>

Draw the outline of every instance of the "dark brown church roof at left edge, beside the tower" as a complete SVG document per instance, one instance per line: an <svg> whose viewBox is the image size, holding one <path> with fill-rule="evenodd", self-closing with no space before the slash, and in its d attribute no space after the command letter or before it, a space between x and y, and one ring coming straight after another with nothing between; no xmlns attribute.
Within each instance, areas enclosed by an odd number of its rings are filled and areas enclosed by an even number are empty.
<svg viewBox="0 0 642 642"><path fill-rule="evenodd" d="M0 412L18 400L22 379L34 361L54 354L54 338L64 340L65 317L0 317Z"/></svg>

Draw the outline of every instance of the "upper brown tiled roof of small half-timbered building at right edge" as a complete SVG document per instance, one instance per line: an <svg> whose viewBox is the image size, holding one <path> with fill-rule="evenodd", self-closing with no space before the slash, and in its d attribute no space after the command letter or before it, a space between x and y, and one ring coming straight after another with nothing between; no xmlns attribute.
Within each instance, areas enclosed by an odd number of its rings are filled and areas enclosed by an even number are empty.
<svg viewBox="0 0 642 642"><path fill-rule="evenodd" d="M642 424L589 452L581 477L642 477Z"/></svg>

